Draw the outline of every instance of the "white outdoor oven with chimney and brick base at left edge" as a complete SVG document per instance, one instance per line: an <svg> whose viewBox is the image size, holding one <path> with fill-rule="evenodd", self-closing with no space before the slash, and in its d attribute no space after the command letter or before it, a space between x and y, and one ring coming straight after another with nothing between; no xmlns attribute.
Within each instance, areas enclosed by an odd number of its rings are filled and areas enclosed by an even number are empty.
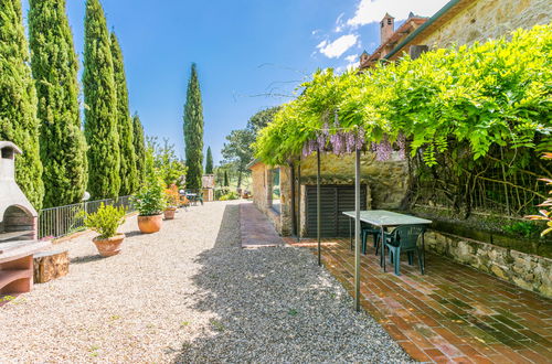
<svg viewBox="0 0 552 364"><path fill-rule="evenodd" d="M36 240L36 210L15 183L15 156L21 150L0 141L0 298L29 292L33 255L50 247Z"/></svg>

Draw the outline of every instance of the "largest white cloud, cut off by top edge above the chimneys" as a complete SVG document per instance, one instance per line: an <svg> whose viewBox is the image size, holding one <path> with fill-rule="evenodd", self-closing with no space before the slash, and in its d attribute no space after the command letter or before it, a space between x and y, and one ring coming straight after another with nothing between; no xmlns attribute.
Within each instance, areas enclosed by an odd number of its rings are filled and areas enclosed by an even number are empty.
<svg viewBox="0 0 552 364"><path fill-rule="evenodd" d="M412 11L416 15L432 17L449 0L360 0L354 17L347 21L350 26L360 26L379 22L389 12L396 20L408 18Z"/></svg>

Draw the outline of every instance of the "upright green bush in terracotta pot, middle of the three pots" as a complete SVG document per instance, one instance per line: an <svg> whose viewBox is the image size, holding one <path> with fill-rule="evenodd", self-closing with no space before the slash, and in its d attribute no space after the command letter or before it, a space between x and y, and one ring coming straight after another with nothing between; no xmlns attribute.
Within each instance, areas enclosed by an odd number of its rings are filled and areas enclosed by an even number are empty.
<svg viewBox="0 0 552 364"><path fill-rule="evenodd" d="M163 188L158 179L152 179L132 199L138 210L138 228L142 234L161 229L162 213L167 206Z"/></svg>

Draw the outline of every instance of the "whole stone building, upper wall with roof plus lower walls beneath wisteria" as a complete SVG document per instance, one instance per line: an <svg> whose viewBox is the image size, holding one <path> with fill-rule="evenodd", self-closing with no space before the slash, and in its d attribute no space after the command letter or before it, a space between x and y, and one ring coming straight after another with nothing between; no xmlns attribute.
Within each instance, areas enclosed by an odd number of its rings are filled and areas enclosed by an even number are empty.
<svg viewBox="0 0 552 364"><path fill-rule="evenodd" d="M381 45L364 52L360 69L380 60L395 61L404 54L416 57L431 49L484 42L518 28L549 23L550 0L452 0L431 18L410 14L399 29L385 14L380 23ZM342 211L354 208L354 156L321 156L322 236L348 234ZM408 164L397 154L385 162L372 153L362 156L362 208L400 208L408 193ZM297 163L266 165L250 163L254 203L274 222L282 235L316 236L316 154Z"/></svg>

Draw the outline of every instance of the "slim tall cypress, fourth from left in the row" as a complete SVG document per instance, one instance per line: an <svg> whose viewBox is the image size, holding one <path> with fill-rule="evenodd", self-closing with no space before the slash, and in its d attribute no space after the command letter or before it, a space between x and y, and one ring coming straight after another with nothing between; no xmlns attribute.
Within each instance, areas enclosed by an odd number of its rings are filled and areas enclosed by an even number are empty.
<svg viewBox="0 0 552 364"><path fill-rule="evenodd" d="M117 87L117 130L120 148L119 195L126 196L138 189L138 176L136 174L136 153L132 142L134 128L130 110L128 109L128 88L123 51L114 32L112 32L112 56L115 71L115 86Z"/></svg>

